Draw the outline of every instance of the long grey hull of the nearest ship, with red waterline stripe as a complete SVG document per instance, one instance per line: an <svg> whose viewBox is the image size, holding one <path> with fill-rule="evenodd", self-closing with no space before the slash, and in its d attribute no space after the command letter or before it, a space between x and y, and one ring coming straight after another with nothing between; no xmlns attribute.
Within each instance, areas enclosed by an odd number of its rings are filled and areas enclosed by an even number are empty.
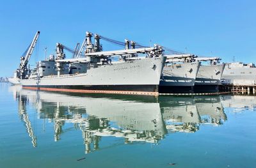
<svg viewBox="0 0 256 168"><path fill-rule="evenodd" d="M80 93L158 95L165 57L100 66L86 73L20 80L23 88Z"/></svg>

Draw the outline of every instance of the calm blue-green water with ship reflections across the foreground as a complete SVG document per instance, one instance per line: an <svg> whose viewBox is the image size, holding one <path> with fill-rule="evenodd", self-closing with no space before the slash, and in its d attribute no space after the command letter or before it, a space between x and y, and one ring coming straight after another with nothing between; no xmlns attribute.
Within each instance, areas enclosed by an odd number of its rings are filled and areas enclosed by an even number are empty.
<svg viewBox="0 0 256 168"><path fill-rule="evenodd" d="M255 96L111 96L0 83L0 167L256 167Z"/></svg>

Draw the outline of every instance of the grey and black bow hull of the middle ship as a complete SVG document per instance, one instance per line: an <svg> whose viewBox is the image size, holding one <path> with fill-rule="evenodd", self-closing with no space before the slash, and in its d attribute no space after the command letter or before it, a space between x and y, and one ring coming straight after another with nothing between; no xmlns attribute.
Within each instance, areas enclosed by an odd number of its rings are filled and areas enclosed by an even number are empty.
<svg viewBox="0 0 256 168"><path fill-rule="evenodd" d="M159 93L193 93L199 62L164 66Z"/></svg>

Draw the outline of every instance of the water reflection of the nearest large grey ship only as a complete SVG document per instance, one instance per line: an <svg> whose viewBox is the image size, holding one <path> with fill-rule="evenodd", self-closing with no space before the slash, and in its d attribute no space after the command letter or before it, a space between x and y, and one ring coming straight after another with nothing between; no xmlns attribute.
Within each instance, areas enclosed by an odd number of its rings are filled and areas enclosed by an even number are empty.
<svg viewBox="0 0 256 168"><path fill-rule="evenodd" d="M124 137L125 143L157 143L166 134L159 103L154 100L74 96L20 89L17 95L35 102L40 118L54 122L54 140L60 139L65 123L74 123L81 129L86 153L99 148L100 137ZM20 100L22 102L22 100ZM92 148L93 146L93 148Z"/></svg>

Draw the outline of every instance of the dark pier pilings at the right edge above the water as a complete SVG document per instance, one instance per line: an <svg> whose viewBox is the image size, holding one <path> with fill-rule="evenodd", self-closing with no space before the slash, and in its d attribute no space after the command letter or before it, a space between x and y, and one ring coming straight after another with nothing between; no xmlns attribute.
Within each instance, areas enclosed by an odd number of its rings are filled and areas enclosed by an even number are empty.
<svg viewBox="0 0 256 168"><path fill-rule="evenodd" d="M234 84L222 84L220 91L230 91L232 93L241 93L248 95L256 95L256 85L234 85Z"/></svg>

